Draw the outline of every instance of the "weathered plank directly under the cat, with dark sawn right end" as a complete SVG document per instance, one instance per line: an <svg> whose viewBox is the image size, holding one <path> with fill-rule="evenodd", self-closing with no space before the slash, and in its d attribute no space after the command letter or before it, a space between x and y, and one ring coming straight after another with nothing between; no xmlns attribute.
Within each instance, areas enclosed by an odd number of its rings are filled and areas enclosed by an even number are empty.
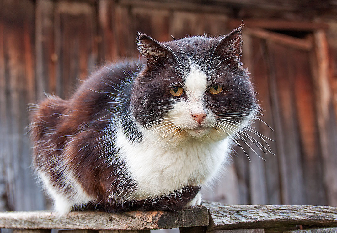
<svg viewBox="0 0 337 233"><path fill-rule="evenodd" d="M60 216L48 211L0 212L0 228L144 230L207 225L208 211L204 206L172 213L132 211L116 214L96 211L70 212Z"/></svg>

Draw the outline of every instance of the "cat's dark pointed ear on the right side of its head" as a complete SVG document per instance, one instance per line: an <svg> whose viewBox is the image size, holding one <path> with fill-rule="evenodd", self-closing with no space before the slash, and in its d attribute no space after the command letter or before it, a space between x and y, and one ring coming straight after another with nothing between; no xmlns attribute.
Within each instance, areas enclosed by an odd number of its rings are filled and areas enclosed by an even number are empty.
<svg viewBox="0 0 337 233"><path fill-rule="evenodd" d="M215 51L219 55L226 56L230 61L239 61L242 46L242 28L243 26L240 26L221 38L216 45Z"/></svg>

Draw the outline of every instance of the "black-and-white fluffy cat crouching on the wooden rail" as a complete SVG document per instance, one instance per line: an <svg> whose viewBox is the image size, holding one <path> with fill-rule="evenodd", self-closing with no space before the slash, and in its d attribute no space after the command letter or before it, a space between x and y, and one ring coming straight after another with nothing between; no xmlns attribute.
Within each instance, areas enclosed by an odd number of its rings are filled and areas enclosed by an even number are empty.
<svg viewBox="0 0 337 233"><path fill-rule="evenodd" d="M199 205L258 108L241 30L168 42L140 34L140 59L102 66L69 100L42 101L33 165L55 211Z"/></svg>

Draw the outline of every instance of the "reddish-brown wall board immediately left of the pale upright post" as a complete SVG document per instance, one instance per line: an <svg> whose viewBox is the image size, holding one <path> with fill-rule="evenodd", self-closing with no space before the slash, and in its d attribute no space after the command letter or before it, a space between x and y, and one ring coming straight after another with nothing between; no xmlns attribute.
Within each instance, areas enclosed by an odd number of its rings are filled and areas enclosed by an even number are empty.
<svg viewBox="0 0 337 233"><path fill-rule="evenodd" d="M310 67L309 53L294 52L294 92L307 203L326 205L326 193L323 186L323 170L319 143L315 94Z"/></svg>

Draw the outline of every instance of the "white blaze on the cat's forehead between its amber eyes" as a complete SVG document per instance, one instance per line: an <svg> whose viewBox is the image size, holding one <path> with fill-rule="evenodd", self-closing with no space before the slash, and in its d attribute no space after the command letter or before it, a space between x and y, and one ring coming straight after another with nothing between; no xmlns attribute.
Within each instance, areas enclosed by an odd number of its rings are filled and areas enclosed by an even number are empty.
<svg viewBox="0 0 337 233"><path fill-rule="evenodd" d="M191 72L185 80L185 91L190 100L201 100L207 89L207 76L196 65L191 65Z"/></svg>

